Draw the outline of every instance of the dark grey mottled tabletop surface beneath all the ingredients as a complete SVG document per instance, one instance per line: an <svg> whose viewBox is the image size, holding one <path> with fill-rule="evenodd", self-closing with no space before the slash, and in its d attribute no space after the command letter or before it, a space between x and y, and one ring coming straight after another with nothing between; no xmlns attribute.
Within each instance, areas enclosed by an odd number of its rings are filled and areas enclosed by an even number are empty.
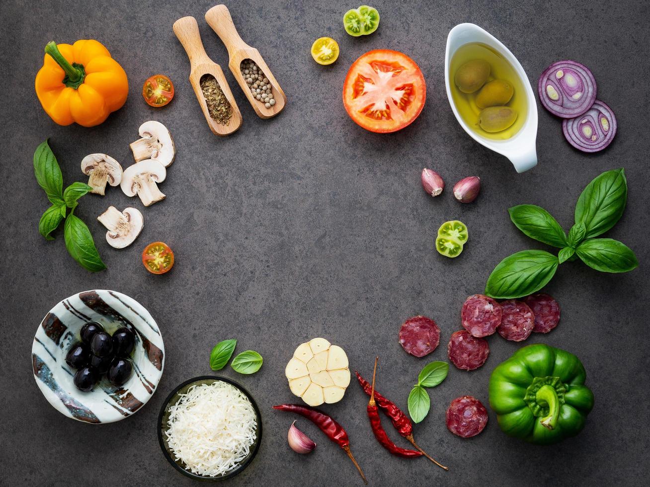
<svg viewBox="0 0 650 487"><path fill-rule="evenodd" d="M650 475L647 453L647 3L374 1L381 25L372 36L344 33L343 12L352 3L237 1L228 4L240 34L261 51L288 98L271 120L255 116L225 69L226 49L203 20L213 1L117 0L111 2L5 1L0 54L3 70L1 165L3 174L2 313L0 330L0 469L4 485L189 485L164 459L156 419L164 397L180 382L210 373L215 343L237 338L237 351L255 349L265 363L239 380L263 411L264 438L257 458L230 483L324 486L360 485L343 451L300 419L318 443L309 456L287 447L292 415L270 406L292 401L284 367L299 343L324 336L344 347L350 367L369 374L380 354L378 388L406 409L406 397L422 366L446 360L450 334L460 328L460 307L480 292L502 257L545 248L508 219L515 204L539 204L565 228L578 194L597 174L625 167L629 200L608 232L632 247L642 265L629 274L601 274L579 262L562 265L547 291L562 306L562 321L545 342L575 352L596 397L584 432L554 447L534 447L506 437L491 414L480 436L463 440L445 427L454 397L474 395L487 405L487 380L495 365L521 344L489 339L486 365L472 373L452 367L431 389L432 408L415 438L441 462L392 457L370 433L367 398L354 382L344 400L324 407L347 428L352 451L370 484L441 485L636 485ZM197 18L207 53L224 66L244 124L235 135L209 131L187 76L185 51L172 33L182 16ZM573 150L561 124L539 109L539 165L516 174L506 159L469 138L447 103L443 78L445 40L456 23L473 21L510 47L536 86L551 62L576 59L591 68L598 95L616 111L618 133L597 155ZM317 66L311 42L333 36L339 60ZM98 127L59 127L45 115L33 79L49 40L103 42L129 76L126 105ZM375 135L353 124L341 103L348 67L365 51L404 51L422 68L427 100L421 116L393 135ZM174 101L149 108L140 95L153 73L170 75ZM91 274L68 256L62 231L46 242L37 231L47 200L32 173L32 153L45 137L59 159L66 184L85 180L79 170L88 153L106 152L123 166L128 144L146 120L166 124L177 157L161 184L164 202L142 210L144 231L135 244L114 250L95 220L108 205L140 202L110 188L104 198L86 196L77 215L90 226L108 270ZM419 182L423 166L447 182L439 198ZM483 190L474 204L458 204L454 181L476 174ZM469 226L462 256L434 250L441 222ZM140 263L151 241L174 248L176 263L153 276ZM99 427L66 419L34 383L30 350L44 314L60 299L85 289L114 289L133 296L161 326L166 363L159 390L134 417ZM434 318L441 345L425 359L397 343L400 323L422 313ZM389 434L408 446L385 423Z"/></svg>

